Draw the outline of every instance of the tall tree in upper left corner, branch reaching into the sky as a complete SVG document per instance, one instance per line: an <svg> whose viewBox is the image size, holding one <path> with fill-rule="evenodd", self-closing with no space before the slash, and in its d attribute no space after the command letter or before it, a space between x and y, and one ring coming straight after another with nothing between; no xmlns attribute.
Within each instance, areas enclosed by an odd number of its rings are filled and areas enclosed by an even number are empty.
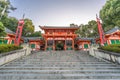
<svg viewBox="0 0 120 80"><path fill-rule="evenodd" d="M0 0L0 20L5 27L12 31L16 31L18 20L14 17L8 17L10 11L14 11L14 8L9 0Z"/></svg>

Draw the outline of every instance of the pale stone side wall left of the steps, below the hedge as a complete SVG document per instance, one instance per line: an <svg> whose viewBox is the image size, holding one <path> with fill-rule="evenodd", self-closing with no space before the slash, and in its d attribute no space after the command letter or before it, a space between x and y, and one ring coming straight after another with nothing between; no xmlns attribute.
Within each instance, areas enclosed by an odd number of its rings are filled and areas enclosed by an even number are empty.
<svg viewBox="0 0 120 80"><path fill-rule="evenodd" d="M28 47L28 45L24 45L23 49L21 49L21 50L15 50L15 51L7 52L7 53L1 53L0 54L0 65L6 64L17 58L27 56L30 53L31 53L31 49Z"/></svg>

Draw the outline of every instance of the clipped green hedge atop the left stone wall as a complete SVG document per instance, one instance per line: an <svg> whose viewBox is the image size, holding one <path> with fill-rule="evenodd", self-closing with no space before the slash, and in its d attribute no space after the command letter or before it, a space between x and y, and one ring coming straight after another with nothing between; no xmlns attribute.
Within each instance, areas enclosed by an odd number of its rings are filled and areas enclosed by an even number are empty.
<svg viewBox="0 0 120 80"><path fill-rule="evenodd" d="M21 47L21 46L15 46L12 44L0 44L0 53L18 50L18 49L22 49L22 48L23 47Z"/></svg>

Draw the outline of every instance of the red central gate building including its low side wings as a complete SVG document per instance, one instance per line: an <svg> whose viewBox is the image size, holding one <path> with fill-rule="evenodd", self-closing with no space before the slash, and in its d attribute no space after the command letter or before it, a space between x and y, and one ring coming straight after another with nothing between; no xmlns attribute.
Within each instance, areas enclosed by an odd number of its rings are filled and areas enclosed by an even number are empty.
<svg viewBox="0 0 120 80"><path fill-rule="evenodd" d="M32 50L89 50L91 39L79 38L79 27L40 26L42 37L27 37Z"/></svg>

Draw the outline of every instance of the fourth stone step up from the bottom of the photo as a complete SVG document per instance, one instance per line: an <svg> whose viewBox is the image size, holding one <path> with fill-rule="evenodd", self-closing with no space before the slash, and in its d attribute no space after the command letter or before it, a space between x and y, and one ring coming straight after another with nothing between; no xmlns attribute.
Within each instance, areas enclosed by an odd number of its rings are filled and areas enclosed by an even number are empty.
<svg viewBox="0 0 120 80"><path fill-rule="evenodd" d="M15 66L31 66L31 67L119 67L112 64L11 64L4 65L4 67L15 67Z"/></svg>

